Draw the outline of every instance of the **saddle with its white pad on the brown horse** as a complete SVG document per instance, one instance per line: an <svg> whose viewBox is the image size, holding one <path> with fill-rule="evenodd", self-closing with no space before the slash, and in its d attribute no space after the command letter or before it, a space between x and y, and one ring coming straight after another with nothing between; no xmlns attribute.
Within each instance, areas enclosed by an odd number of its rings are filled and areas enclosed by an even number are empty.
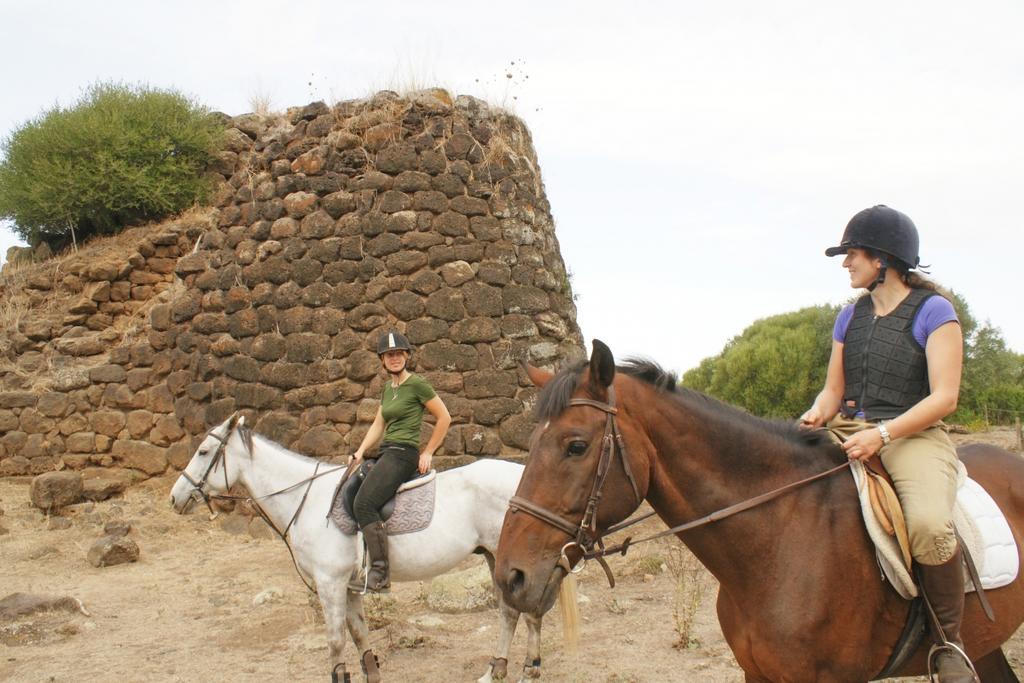
<svg viewBox="0 0 1024 683"><path fill-rule="evenodd" d="M1017 542L992 497L968 477L963 463L957 464L953 526L965 554L974 564L973 571L970 562L965 566L966 590L976 590L972 573L985 590L1006 586L1017 578L1019 570ZM877 459L867 465L853 461L850 471L883 574L901 596L907 600L916 597L918 586L910 573L909 536L888 473Z"/></svg>

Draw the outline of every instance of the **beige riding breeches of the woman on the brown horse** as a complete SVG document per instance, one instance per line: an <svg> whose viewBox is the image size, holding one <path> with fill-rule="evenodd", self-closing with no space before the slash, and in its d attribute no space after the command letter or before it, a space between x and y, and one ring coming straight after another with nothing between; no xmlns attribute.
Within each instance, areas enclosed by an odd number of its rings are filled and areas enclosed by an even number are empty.
<svg viewBox="0 0 1024 683"><path fill-rule="evenodd" d="M839 415L827 427L839 440L878 425ZM903 507L910 554L921 564L942 564L956 550L953 505L956 503L956 450L941 424L893 439L882 446L882 464L893 479Z"/></svg>

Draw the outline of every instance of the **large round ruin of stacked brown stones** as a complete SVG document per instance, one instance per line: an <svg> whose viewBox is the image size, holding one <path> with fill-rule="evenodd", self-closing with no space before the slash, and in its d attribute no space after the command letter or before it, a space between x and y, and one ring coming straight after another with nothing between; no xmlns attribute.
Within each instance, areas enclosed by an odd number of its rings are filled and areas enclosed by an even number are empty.
<svg viewBox="0 0 1024 683"><path fill-rule="evenodd" d="M582 352L522 122L443 90L224 119L208 221L30 274L26 296L70 305L8 333L29 372L0 373L0 474L180 469L236 411L341 458L376 414L389 329L453 415L442 466L521 454L536 391L519 361Z"/></svg>

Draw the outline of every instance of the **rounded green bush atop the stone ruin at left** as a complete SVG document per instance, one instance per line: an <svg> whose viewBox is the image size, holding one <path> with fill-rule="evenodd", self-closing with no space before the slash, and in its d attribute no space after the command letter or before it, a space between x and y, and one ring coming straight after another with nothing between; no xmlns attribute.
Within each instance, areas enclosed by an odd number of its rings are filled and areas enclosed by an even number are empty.
<svg viewBox="0 0 1024 683"><path fill-rule="evenodd" d="M202 201L222 126L173 90L101 83L54 106L0 150L0 217L32 245L60 248Z"/></svg>

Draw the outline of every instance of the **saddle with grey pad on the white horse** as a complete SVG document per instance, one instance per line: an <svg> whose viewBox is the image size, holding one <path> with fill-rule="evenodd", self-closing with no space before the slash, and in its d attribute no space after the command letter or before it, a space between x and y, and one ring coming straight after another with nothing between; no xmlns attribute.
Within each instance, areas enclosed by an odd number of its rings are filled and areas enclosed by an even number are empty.
<svg viewBox="0 0 1024 683"><path fill-rule="evenodd" d="M349 536L358 531L352 505L359 486L367 474L376 464L375 460L365 460L358 469L352 473L335 493L328 517L341 530ZM434 514L435 470L419 474L398 486L394 498L384 504L380 510L381 519L388 536L412 533L430 525Z"/></svg>

